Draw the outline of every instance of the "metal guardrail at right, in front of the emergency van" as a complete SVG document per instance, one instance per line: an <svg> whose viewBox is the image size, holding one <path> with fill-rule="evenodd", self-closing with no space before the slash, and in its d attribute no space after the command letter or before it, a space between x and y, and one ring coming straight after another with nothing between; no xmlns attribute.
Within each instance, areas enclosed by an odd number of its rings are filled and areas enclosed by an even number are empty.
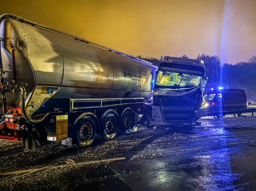
<svg viewBox="0 0 256 191"><path fill-rule="evenodd" d="M254 106L256 107L256 106ZM234 114L234 117L247 117L242 115L242 113L251 113L252 116L256 113L256 108L254 107L248 107L247 109L239 109L239 110L205 110L205 111L201 111L202 113L202 117L206 117L206 116L213 116L214 118L220 118L225 116L226 114ZM236 116L237 114L237 116Z"/></svg>

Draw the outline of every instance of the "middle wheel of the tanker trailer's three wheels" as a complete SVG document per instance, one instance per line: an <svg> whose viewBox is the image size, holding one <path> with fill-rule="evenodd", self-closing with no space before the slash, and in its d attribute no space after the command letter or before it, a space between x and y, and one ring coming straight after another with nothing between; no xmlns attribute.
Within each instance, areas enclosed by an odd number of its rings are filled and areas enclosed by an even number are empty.
<svg viewBox="0 0 256 191"><path fill-rule="evenodd" d="M102 141L114 139L118 124L118 114L116 111L106 111L101 117L100 133L97 134L97 137Z"/></svg>

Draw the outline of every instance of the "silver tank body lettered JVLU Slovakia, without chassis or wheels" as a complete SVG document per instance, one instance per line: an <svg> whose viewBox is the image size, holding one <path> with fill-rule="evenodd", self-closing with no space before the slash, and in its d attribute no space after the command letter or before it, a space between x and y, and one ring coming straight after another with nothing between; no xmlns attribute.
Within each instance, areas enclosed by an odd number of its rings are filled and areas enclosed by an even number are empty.
<svg viewBox="0 0 256 191"><path fill-rule="evenodd" d="M28 84L28 114L51 97L150 97L155 66L31 23L9 17L0 23L2 84ZM14 107L19 91L5 95Z"/></svg>

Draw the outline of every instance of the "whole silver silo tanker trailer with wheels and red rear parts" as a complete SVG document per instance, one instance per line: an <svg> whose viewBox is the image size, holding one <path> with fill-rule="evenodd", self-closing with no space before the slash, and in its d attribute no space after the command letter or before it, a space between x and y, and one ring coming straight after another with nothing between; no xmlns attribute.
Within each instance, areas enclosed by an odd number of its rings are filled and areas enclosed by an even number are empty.
<svg viewBox="0 0 256 191"><path fill-rule="evenodd" d="M0 138L77 148L129 134L145 114L150 62L12 14L0 17Z"/></svg>

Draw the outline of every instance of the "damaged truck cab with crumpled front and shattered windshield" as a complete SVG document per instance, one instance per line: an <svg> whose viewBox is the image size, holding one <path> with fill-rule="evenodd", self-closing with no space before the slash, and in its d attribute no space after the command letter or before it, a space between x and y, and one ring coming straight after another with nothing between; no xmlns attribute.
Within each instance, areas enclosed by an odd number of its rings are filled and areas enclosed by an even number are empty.
<svg viewBox="0 0 256 191"><path fill-rule="evenodd" d="M162 56L153 90L152 125L200 125L205 75L202 60Z"/></svg>

